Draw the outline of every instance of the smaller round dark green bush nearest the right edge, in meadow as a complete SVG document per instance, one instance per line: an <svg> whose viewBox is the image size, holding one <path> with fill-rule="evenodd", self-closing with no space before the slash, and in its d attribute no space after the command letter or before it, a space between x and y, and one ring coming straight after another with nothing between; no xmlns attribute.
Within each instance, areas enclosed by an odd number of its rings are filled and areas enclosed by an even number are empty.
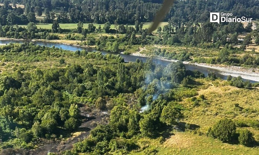
<svg viewBox="0 0 259 155"><path fill-rule="evenodd" d="M252 146L254 142L253 134L247 129L241 130L238 141L241 145Z"/></svg>

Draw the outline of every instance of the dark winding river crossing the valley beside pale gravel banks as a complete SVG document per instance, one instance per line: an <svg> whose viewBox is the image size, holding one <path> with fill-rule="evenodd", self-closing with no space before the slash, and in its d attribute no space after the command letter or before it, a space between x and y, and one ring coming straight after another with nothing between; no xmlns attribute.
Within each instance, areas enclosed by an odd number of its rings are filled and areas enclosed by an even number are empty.
<svg viewBox="0 0 259 155"><path fill-rule="evenodd" d="M12 43L23 43L24 41L22 40L0 40L0 44L9 44L10 42ZM116 54L114 52L108 52L108 51L103 51L103 50L97 50L97 49L92 49L92 48L87 48L87 47L80 47L80 46L74 46L74 45L67 45L67 44L57 44L57 43L49 43L49 42L39 42L39 41L30 41L33 42L36 45L40 45L40 46L45 46L45 47L52 47L55 46L57 48L62 48L65 50L70 50L70 51L76 51L76 50L86 50L88 52L96 52L96 51L100 51L102 52L103 55L105 54ZM136 59L140 59L143 62L145 62L147 60L146 57L142 57L142 56L132 56L132 55L125 55L125 54L119 54L120 56L122 56L125 60L125 62L135 62ZM160 65L167 65L169 63L171 63L171 61L168 60L161 60L161 59L155 59L156 63L160 64ZM235 72L228 72L228 71L221 71L221 70L217 70L217 69L213 69L213 68L209 68L209 67L202 67L202 66L197 66L197 65L191 65L191 64L185 64L185 67L187 70L199 70L201 72L203 72L205 74L205 76L208 75L208 73L210 72L214 72L218 77L220 77L221 79L227 79L227 75L231 75L231 76L242 76L244 77L243 80L249 80L252 83L255 82L259 82L259 77L255 74L246 74L246 73L235 73Z"/></svg>

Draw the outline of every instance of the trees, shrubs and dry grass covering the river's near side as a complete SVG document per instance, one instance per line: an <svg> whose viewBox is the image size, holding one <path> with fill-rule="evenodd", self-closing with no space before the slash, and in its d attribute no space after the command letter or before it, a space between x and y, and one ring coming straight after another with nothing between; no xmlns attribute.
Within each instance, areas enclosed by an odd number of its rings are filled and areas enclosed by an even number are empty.
<svg viewBox="0 0 259 155"><path fill-rule="evenodd" d="M199 71L185 70L180 62L168 66L152 59L124 63L118 55L32 43L8 44L0 51L2 153L70 137L87 117L82 113L91 111L106 111L110 118L64 154L156 152L160 147L152 149L152 144L173 138L175 130L205 139L225 137L213 126L222 118L231 119L235 126L230 128L228 143L237 138L236 143L257 145L258 88L251 83L246 89L230 86L235 81L230 77L223 81L211 73L205 78ZM145 145L143 140L155 141Z"/></svg>

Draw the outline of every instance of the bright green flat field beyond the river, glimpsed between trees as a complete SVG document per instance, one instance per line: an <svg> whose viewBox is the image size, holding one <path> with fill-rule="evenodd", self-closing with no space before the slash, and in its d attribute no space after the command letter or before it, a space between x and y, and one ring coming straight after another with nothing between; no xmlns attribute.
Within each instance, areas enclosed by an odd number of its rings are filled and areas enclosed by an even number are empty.
<svg viewBox="0 0 259 155"><path fill-rule="evenodd" d="M40 19L40 18L43 19L42 16L41 16L41 17L38 17L37 19ZM152 23L144 23L143 28L144 28L144 29L145 29L145 28L149 28L151 24L152 24ZM162 22L162 23L160 23L160 26L161 26L162 29L163 29L163 27L164 27L165 25L167 25L167 24L168 24L168 22ZM51 27L52 27L52 24L36 24L36 25L37 25L38 28L51 29ZM94 24L94 26L96 26L96 28L98 28L99 25L101 25L101 27L104 26L104 24ZM19 26L26 27L26 25L19 25ZM73 28L77 28L77 23L72 23L72 24L59 24L59 26L60 26L62 29L73 29ZM129 26L135 27L135 25L129 25ZM88 28L88 23L87 23L87 24L84 24L84 28ZM115 29L115 28L114 28L114 24L111 25L111 29Z"/></svg>

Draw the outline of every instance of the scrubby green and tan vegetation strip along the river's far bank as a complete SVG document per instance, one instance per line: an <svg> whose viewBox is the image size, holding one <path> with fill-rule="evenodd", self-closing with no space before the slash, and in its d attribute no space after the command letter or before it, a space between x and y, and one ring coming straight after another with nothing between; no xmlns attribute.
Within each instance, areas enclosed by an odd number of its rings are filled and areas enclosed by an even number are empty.
<svg viewBox="0 0 259 155"><path fill-rule="evenodd" d="M160 35L152 35L151 33L147 33L148 29L142 29L141 25L137 26L139 31L136 31L131 26L122 25L122 29L118 29L118 33L120 34L117 35L106 35L106 31L114 31L116 33L116 30L110 29L110 24L106 24L106 29L105 27L103 29L96 29L93 25L84 29L83 24L79 23L78 25L77 29L72 30L62 30L57 23L53 25L52 30L37 29L34 23L29 23L27 28L4 26L0 29L2 32L0 36L17 39L24 38L26 40L61 40L55 42L68 42L70 44L90 46L113 52L124 51L126 54L139 51L140 54L146 54L148 56L155 55L168 59L191 61L192 63L224 64L249 68L257 68L259 64L258 53L255 50L244 51L242 48L246 46L238 48L235 47L235 44L228 43L227 41L225 41L226 45L221 40L214 41L214 43L203 41L199 43L195 40L196 43L191 41L185 44L182 39L186 37L179 38L182 36L180 32L176 34L167 32ZM197 35L203 35L199 30L197 32L194 31L194 34L189 37L192 36L195 38L198 37ZM256 31L257 29L253 33L256 33ZM182 33L187 35L187 30ZM225 36L227 37L227 35Z"/></svg>

